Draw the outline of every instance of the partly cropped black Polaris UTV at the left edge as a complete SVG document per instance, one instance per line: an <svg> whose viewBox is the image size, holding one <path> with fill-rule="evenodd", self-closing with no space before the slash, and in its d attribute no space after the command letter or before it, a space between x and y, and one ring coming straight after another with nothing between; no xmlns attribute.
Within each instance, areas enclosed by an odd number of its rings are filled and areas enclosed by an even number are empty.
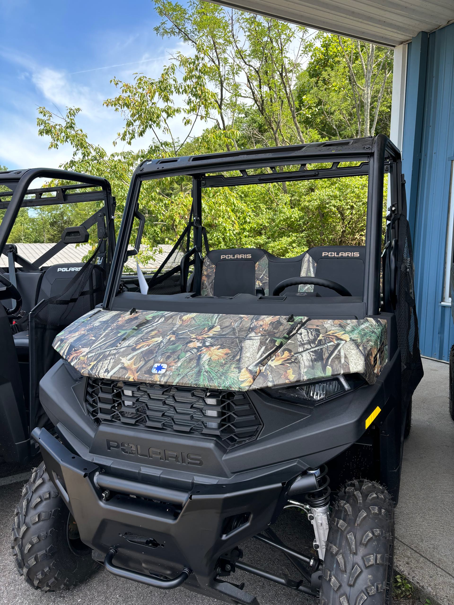
<svg viewBox="0 0 454 605"><path fill-rule="evenodd" d="M76 181L77 185L28 189L36 178ZM81 224L63 229L61 240L41 246L30 260L7 243L21 208L79 204ZM31 430L49 420L39 404L39 381L59 359L52 348L56 334L104 298L115 246L114 200L104 178L64 170L36 168L0 172L0 457L28 463L39 452ZM60 217L58 217L60 218ZM68 244L87 243L97 229L97 247L87 263L59 263ZM61 254L61 257L64 256Z"/></svg>

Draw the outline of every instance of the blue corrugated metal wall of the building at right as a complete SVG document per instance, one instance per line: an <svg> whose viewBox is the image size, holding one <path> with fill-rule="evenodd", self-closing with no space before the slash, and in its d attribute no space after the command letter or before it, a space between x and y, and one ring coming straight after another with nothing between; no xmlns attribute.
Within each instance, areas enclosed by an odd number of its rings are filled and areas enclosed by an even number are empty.
<svg viewBox="0 0 454 605"><path fill-rule="evenodd" d="M416 97L415 87L407 73L406 106ZM454 24L429 36L425 88L418 185L409 200L415 212L416 305L421 352L446 361L454 343L450 307L441 304L454 156Z"/></svg>

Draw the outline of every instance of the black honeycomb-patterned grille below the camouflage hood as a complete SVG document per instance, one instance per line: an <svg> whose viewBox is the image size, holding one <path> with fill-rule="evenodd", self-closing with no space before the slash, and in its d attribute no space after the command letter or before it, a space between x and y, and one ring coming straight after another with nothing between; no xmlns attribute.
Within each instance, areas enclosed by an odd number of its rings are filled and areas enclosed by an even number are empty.
<svg viewBox="0 0 454 605"><path fill-rule="evenodd" d="M89 378L85 396L102 422L214 437L233 448L257 438L262 421L245 393Z"/></svg>

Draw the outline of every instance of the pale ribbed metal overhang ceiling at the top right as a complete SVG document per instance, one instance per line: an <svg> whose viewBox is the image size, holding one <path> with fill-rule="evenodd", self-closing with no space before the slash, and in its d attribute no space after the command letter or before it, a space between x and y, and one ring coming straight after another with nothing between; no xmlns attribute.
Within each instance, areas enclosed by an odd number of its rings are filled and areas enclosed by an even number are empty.
<svg viewBox="0 0 454 605"><path fill-rule="evenodd" d="M218 0L217 4L397 46L454 19L452 0Z"/></svg>

